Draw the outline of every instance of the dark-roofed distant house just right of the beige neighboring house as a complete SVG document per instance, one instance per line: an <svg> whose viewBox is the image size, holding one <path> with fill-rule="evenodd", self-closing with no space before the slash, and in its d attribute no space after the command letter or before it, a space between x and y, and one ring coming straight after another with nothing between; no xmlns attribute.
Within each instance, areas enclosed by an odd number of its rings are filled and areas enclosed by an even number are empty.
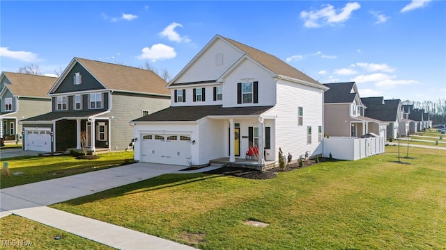
<svg viewBox="0 0 446 250"><path fill-rule="evenodd" d="M385 100L383 97L365 97L361 100L367 106L364 115L387 122L387 138L398 138L402 119L401 100Z"/></svg>

